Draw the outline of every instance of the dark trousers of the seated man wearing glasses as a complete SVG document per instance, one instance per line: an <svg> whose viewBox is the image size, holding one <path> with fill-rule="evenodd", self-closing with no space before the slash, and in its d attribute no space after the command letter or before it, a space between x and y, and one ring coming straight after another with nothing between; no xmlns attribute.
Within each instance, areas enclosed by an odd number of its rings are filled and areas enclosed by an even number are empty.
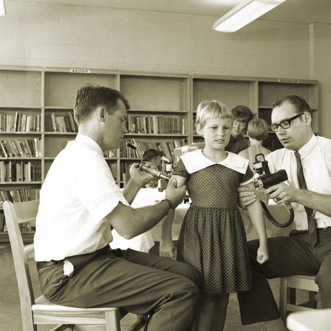
<svg viewBox="0 0 331 331"><path fill-rule="evenodd" d="M237 293L243 325L280 317L267 280L277 277L317 274L321 307L331 308L331 229L317 232L319 241L315 247L308 243L306 231L294 230L290 237L269 238L270 259L263 265L257 263L259 241L248 242L254 279L251 290Z"/></svg>

